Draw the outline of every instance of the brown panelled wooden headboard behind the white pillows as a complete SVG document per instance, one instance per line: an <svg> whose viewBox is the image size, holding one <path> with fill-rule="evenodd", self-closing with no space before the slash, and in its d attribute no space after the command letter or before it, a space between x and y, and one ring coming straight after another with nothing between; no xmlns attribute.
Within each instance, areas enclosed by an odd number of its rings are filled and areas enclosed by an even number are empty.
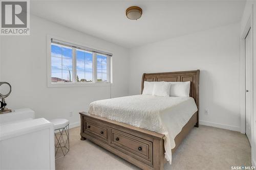
<svg viewBox="0 0 256 170"><path fill-rule="evenodd" d="M195 99L199 110L199 74L200 70L194 71L176 71L176 72L157 72L144 73L141 82L141 93L144 87L144 81L148 82L187 82L190 81L189 96Z"/></svg>

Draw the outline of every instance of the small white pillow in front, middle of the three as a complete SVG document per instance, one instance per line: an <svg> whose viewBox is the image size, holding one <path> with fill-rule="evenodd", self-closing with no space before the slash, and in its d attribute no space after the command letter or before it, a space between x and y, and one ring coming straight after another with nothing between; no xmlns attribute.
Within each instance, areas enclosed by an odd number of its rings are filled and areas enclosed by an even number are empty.
<svg viewBox="0 0 256 170"><path fill-rule="evenodd" d="M170 83L168 83L168 82L155 83L154 87L153 87L152 95L169 96L170 95Z"/></svg>

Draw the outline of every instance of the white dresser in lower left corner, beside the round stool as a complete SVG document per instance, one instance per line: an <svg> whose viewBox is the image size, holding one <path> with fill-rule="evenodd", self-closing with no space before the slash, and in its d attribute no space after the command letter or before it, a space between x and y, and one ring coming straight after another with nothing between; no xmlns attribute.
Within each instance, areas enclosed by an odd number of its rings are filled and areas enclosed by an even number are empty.
<svg viewBox="0 0 256 170"><path fill-rule="evenodd" d="M55 169L54 128L31 109L0 114L0 169Z"/></svg>

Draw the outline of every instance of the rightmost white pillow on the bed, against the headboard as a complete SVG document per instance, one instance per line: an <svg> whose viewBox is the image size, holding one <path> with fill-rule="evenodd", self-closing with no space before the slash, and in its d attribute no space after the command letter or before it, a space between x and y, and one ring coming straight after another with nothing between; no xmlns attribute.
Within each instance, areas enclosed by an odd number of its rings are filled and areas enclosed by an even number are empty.
<svg viewBox="0 0 256 170"><path fill-rule="evenodd" d="M190 81L170 82L170 96L189 97Z"/></svg>

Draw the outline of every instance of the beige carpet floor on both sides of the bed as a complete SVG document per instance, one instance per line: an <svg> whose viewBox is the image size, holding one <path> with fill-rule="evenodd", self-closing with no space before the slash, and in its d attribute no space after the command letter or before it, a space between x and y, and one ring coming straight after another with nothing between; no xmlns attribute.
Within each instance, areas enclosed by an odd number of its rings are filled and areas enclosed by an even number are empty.
<svg viewBox="0 0 256 170"><path fill-rule="evenodd" d="M80 127L70 130L70 152L56 160L56 169L139 169L131 163L80 140ZM239 132L200 126L194 128L164 169L231 169L251 165L250 144Z"/></svg>

